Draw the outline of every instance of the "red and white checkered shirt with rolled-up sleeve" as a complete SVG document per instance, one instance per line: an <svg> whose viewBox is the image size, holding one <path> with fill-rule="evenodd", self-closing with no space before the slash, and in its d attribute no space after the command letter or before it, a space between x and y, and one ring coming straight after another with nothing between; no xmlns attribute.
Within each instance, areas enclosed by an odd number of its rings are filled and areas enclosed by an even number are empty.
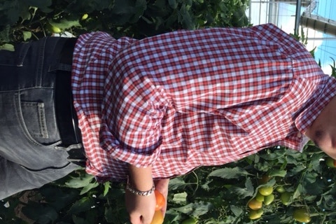
<svg viewBox="0 0 336 224"><path fill-rule="evenodd" d="M274 25L174 31L136 40L79 37L73 97L87 173L123 180L223 165L262 148L297 151L336 82Z"/></svg>

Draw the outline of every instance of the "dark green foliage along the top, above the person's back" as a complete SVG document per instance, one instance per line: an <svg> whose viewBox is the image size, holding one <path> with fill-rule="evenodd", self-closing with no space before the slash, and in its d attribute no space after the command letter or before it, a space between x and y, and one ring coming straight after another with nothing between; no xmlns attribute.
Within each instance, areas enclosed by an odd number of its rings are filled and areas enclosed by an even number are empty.
<svg viewBox="0 0 336 224"><path fill-rule="evenodd" d="M0 45L69 31L143 38L175 29L244 27L248 0L3 0Z"/></svg>

